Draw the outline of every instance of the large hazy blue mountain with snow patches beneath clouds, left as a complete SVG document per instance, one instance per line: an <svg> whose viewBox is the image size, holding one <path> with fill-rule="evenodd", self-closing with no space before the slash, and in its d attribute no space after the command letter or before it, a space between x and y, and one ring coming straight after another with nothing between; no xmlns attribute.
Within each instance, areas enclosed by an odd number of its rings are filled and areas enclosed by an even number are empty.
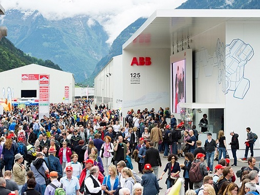
<svg viewBox="0 0 260 195"><path fill-rule="evenodd" d="M75 81L88 78L97 62L109 51L103 27L88 16L47 20L38 11L7 10L1 18L8 39L25 53L50 59Z"/></svg>

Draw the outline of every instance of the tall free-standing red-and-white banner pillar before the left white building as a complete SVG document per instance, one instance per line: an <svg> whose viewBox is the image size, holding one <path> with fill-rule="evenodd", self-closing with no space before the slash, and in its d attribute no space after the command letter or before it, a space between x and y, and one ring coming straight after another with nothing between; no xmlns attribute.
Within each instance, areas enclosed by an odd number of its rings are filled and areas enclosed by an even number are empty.
<svg viewBox="0 0 260 195"><path fill-rule="evenodd" d="M50 117L50 75L39 75L39 120Z"/></svg>

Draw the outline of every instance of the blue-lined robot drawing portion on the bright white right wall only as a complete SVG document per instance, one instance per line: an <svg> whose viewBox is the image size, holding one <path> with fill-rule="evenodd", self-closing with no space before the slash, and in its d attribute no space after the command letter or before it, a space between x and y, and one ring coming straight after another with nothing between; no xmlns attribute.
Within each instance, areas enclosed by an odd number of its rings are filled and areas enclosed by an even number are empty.
<svg viewBox="0 0 260 195"><path fill-rule="evenodd" d="M250 81L244 78L245 65L253 57L254 51L241 39L233 39L226 46L226 79L222 91L234 91L233 97L243 99L250 88ZM223 82L222 82L223 84Z"/></svg>

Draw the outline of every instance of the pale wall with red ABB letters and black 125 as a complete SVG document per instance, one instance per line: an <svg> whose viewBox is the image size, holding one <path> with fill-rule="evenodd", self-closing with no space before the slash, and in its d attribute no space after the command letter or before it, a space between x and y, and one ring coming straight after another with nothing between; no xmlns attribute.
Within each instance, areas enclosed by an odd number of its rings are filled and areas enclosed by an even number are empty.
<svg viewBox="0 0 260 195"><path fill-rule="evenodd" d="M131 66L133 57L150 57L151 64ZM170 49L123 50L123 116L131 109L147 107L157 112L159 107L169 107L169 70Z"/></svg>

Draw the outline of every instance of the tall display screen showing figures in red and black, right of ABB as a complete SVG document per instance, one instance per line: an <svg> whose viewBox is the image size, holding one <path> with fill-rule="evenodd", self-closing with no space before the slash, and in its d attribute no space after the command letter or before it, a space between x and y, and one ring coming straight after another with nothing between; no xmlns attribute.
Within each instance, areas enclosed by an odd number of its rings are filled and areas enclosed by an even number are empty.
<svg viewBox="0 0 260 195"><path fill-rule="evenodd" d="M180 114L179 103L186 102L186 59L171 63L172 111Z"/></svg>

